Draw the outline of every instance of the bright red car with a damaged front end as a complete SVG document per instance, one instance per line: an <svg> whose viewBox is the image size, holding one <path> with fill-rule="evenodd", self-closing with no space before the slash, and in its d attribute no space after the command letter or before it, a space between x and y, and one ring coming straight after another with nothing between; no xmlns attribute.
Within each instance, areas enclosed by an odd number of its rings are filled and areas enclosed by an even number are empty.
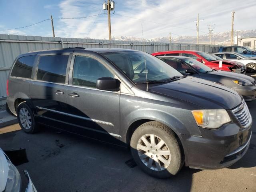
<svg viewBox="0 0 256 192"><path fill-rule="evenodd" d="M215 70L222 70L222 71L232 71L237 73L245 72L245 67L242 64L238 64L233 61L222 61L222 67L220 67L220 60L214 58L213 56L204 53L202 51L193 51L193 50L186 50L186 51L162 51L157 53L152 53L153 56L185 56L190 57L193 59L202 62L206 66L215 69Z"/></svg>

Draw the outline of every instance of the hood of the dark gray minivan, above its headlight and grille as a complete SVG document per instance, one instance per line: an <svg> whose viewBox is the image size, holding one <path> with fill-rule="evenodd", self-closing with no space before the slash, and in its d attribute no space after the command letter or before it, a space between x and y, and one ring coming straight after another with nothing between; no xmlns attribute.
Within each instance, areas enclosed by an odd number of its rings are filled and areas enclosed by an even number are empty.
<svg viewBox="0 0 256 192"><path fill-rule="evenodd" d="M186 77L150 88L150 91L178 98L206 109L230 110L241 104L238 92L200 78Z"/></svg>

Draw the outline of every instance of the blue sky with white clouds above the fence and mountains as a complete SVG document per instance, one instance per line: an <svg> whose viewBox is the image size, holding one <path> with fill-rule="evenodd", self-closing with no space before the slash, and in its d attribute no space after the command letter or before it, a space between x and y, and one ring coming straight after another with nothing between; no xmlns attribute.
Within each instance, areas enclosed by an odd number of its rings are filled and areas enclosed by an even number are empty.
<svg viewBox="0 0 256 192"><path fill-rule="evenodd" d="M0 34L108 39L108 15L104 0L0 0ZM247 0L115 0L111 12L112 37L144 38L196 36L231 30L231 13L235 11L234 30L256 29L256 1ZM91 17L89 17L91 16ZM79 18L80 19L61 19ZM19 28L35 24L26 28Z"/></svg>

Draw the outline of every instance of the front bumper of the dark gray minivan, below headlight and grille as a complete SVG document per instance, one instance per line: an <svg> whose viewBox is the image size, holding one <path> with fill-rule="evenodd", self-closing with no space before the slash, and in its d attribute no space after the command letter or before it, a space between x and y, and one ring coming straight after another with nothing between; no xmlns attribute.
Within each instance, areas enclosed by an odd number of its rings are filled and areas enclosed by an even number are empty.
<svg viewBox="0 0 256 192"><path fill-rule="evenodd" d="M202 136L182 135L186 166L220 169L231 166L246 153L252 134L231 122L217 130L200 128Z"/></svg>

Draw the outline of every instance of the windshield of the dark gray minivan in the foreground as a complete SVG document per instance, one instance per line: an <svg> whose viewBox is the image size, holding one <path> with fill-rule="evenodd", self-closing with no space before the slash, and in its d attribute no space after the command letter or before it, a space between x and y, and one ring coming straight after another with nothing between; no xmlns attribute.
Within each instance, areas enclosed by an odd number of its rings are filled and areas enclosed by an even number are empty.
<svg viewBox="0 0 256 192"><path fill-rule="evenodd" d="M102 53L114 63L126 76L136 83L161 82L174 76L182 76L180 72L160 59L138 51Z"/></svg>

